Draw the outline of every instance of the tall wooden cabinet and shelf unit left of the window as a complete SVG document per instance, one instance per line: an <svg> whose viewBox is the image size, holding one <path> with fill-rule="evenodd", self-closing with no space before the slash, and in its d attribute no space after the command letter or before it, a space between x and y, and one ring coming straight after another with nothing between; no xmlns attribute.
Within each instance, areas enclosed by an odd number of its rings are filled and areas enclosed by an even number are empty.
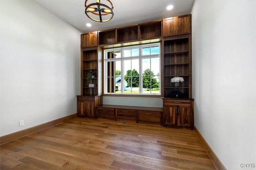
<svg viewBox="0 0 256 170"><path fill-rule="evenodd" d="M77 116L95 118L95 107L102 105L102 61L98 32L81 35L81 95L77 96ZM87 83L88 73L94 76ZM94 84L93 87L89 87Z"/></svg>

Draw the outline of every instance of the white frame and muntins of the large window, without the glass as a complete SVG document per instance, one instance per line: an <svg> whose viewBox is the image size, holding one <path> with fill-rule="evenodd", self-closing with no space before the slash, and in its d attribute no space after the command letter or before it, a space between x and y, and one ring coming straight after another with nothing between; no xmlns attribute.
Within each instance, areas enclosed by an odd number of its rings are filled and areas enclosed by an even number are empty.
<svg viewBox="0 0 256 170"><path fill-rule="evenodd" d="M150 55L142 55L142 49L145 48L145 47L158 47L159 48L159 53L158 54L150 54ZM139 48L139 55L138 56L132 56L132 49L136 49L136 48ZM130 49L131 50L131 56L130 57L124 57L124 50L126 49ZM108 52L111 52L111 51L120 51L120 57L118 58L111 58L111 59L108 59L107 58L107 54ZM161 93L162 93L162 90L161 90L161 43L160 42L157 42L157 43L148 43L148 44L142 44L142 45L131 45L131 46L126 46L126 47L116 47L116 48L108 48L108 49L103 49L102 51L103 53L103 75L104 75L104 78L103 78L103 87L102 87L102 91L103 91L103 95L109 95L109 96L130 96L130 97L160 97L161 96ZM150 50L151 52L151 50ZM152 71L151 69L151 66L152 66L152 63L151 63L151 59L152 58L159 58L159 93L152 93L152 91L150 91L150 93L142 93L143 92L143 82L142 82L142 79L143 79L143 71L142 71L142 61L143 59L147 59L147 58L150 58L150 71ZM121 80L124 79L124 61L125 60L130 60L132 61L132 59L139 59L139 70L138 70L138 73L139 73L139 93L124 93L124 84L123 84L123 81L121 81L121 93L115 93L115 92L107 92L108 91L108 68L107 68L107 65L108 65L108 62L110 61L120 61L120 67L121 67ZM116 75L115 75L115 71L114 70L114 79L116 79ZM131 68L131 71L132 71L132 68ZM158 73L154 73L154 75L157 75ZM115 88L115 87L114 87Z"/></svg>

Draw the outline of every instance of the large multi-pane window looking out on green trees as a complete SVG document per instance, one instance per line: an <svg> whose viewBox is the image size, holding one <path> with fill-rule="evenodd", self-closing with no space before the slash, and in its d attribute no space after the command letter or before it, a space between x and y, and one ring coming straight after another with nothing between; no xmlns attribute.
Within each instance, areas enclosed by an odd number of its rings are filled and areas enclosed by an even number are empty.
<svg viewBox="0 0 256 170"><path fill-rule="evenodd" d="M104 50L105 94L160 95L160 43Z"/></svg>

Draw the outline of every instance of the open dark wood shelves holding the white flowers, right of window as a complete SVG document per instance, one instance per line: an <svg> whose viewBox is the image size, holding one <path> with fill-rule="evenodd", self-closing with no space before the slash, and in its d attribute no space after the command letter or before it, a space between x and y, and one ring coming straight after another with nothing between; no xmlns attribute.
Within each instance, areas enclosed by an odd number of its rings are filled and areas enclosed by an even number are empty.
<svg viewBox="0 0 256 170"><path fill-rule="evenodd" d="M190 36L164 39L164 97L173 97L172 94L177 92L182 97L192 97L190 47ZM175 83L170 82L176 76L184 78L180 87L175 87Z"/></svg>

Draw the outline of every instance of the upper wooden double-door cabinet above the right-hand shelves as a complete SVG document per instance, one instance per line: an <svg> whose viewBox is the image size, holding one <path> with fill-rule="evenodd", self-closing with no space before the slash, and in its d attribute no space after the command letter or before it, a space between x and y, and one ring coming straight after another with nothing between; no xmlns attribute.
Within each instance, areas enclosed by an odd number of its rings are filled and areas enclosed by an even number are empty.
<svg viewBox="0 0 256 170"><path fill-rule="evenodd" d="M190 34L191 15L163 19L163 37Z"/></svg>

